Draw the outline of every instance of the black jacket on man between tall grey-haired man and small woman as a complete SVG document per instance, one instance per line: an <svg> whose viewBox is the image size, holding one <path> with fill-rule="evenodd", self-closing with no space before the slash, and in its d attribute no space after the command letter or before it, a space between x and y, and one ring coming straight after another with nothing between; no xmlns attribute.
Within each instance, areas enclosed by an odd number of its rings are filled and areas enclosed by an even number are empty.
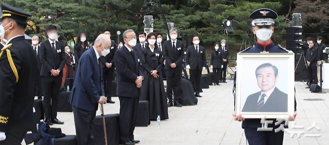
<svg viewBox="0 0 329 145"><path fill-rule="evenodd" d="M196 52L194 45L187 47L186 51L186 65L189 65L191 70L202 70L205 67L205 50L202 46L198 46L198 52Z"/></svg>

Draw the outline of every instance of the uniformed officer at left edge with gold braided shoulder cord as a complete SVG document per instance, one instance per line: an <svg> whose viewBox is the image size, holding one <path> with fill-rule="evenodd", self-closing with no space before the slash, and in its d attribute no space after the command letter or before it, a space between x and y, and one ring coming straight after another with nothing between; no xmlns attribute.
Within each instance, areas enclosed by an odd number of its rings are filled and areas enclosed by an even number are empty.
<svg viewBox="0 0 329 145"><path fill-rule="evenodd" d="M36 56L24 37L31 14L1 4L0 145L20 145L32 128Z"/></svg>

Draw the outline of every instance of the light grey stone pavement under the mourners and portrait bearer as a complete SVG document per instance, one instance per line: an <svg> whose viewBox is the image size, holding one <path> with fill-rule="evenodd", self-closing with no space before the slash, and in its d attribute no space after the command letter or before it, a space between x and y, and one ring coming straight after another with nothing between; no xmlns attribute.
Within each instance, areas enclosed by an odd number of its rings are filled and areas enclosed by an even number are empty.
<svg viewBox="0 0 329 145"><path fill-rule="evenodd" d="M302 82L295 82L297 117L296 126L304 126L304 129L291 129L289 131L306 131L313 122L317 127L305 132L300 138L284 134L284 145L329 145L329 93L310 93ZM168 108L169 119L161 121L160 128L156 128L156 122L151 122L148 127L136 127L135 139L141 142L137 145L246 145L245 136L241 129L241 122L232 118L233 97L232 81L220 86L210 86L203 89L202 98L198 98L196 106L183 106L182 108ZM304 99L323 99L323 101L306 101ZM112 99L115 104L105 104L105 114L119 112L117 97ZM100 115L98 110L97 115ZM58 113L59 120L64 125L54 125L61 128L66 135L75 135L72 113ZM320 137L305 137L320 134Z"/></svg>

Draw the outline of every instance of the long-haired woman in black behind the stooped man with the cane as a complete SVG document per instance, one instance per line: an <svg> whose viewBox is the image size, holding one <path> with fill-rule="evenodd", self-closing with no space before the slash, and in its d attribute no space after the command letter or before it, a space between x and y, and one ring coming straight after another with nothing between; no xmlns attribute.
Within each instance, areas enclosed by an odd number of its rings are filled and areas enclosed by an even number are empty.
<svg viewBox="0 0 329 145"><path fill-rule="evenodd" d="M73 47L75 64L79 63L82 53L88 48L89 44L86 41L86 33L84 31L79 31L76 35L76 43Z"/></svg>

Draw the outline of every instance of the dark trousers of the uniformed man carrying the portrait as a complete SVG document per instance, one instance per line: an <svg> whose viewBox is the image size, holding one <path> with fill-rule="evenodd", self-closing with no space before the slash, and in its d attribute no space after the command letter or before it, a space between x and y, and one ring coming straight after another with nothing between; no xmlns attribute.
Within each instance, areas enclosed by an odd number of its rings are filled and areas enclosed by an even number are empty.
<svg viewBox="0 0 329 145"><path fill-rule="evenodd" d="M249 145L282 145L283 132L257 131L257 128L244 128L244 135Z"/></svg>

